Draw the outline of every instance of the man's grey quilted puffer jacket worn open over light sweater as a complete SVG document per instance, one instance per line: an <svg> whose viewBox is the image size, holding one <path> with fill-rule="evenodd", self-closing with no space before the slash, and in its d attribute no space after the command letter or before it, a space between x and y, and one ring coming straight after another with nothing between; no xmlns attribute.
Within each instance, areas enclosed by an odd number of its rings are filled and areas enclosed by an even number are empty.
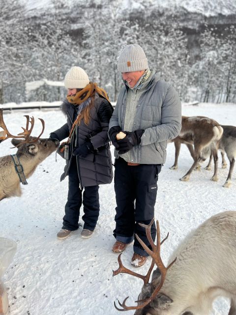
<svg viewBox="0 0 236 315"><path fill-rule="evenodd" d="M126 96L125 85L109 123L109 129L120 126L124 130ZM125 160L140 164L163 164L166 161L167 140L174 139L181 129L181 102L176 90L154 74L137 103L132 131L144 129L141 143L125 155ZM127 131L127 130L126 130ZM130 130L128 130L130 131ZM115 150L115 158L118 158Z"/></svg>

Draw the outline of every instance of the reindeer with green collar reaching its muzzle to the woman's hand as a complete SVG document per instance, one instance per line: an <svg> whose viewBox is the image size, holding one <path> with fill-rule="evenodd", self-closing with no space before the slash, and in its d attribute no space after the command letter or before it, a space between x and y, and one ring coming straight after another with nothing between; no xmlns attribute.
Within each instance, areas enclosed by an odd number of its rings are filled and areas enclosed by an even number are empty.
<svg viewBox="0 0 236 315"><path fill-rule="evenodd" d="M12 196L21 196L20 182L28 184L26 178L29 178L35 171L37 165L47 158L52 152L56 151L59 141L56 139L42 139L40 136L44 130L44 121L42 122L42 131L38 137L30 136L34 126L34 118L26 116L26 128L18 136L12 135L6 128L2 111L0 111L0 126L4 129L2 141L13 138L11 143L18 148L16 155L0 157L0 200ZM29 124L31 125L29 128ZM23 139L20 139L23 138Z"/></svg>

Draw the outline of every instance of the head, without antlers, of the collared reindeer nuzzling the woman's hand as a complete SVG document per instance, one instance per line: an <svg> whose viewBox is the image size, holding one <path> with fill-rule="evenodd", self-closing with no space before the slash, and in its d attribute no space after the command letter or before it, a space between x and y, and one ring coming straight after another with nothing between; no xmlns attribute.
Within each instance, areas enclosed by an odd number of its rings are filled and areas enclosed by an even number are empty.
<svg viewBox="0 0 236 315"><path fill-rule="evenodd" d="M59 147L59 141L56 139L42 139L37 137L29 137L29 143L24 139L12 139L11 143L18 148L17 155L37 157L44 160Z"/></svg>

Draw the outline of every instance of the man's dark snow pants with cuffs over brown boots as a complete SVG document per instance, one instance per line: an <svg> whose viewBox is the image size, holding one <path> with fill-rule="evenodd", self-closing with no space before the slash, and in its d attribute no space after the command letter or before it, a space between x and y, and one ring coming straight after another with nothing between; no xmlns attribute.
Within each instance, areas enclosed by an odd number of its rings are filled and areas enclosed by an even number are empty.
<svg viewBox="0 0 236 315"><path fill-rule="evenodd" d="M134 239L134 252L148 256L135 233L149 247L145 228L138 223L149 224L154 218L158 174L161 164L129 166L123 158L115 160L116 228L117 241L130 243ZM153 241L156 236L155 222L151 226Z"/></svg>

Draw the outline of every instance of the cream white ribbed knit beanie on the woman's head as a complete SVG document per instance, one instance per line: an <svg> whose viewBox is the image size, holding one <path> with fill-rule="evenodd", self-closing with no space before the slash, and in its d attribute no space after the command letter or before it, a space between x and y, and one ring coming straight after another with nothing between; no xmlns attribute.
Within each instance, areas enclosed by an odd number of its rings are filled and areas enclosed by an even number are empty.
<svg viewBox="0 0 236 315"><path fill-rule="evenodd" d="M72 67L65 75L64 80L67 89L84 89L89 84L88 74L80 67Z"/></svg>

